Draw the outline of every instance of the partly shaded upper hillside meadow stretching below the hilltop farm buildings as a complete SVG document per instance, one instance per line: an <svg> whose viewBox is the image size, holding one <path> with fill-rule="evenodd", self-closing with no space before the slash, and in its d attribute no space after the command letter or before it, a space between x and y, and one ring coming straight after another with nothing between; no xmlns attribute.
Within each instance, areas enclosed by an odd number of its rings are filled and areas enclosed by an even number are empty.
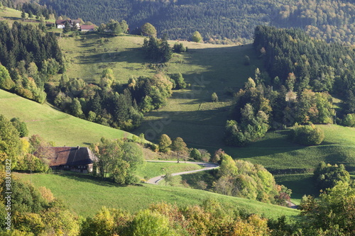
<svg viewBox="0 0 355 236"><path fill-rule="evenodd" d="M106 42L102 43L104 39ZM145 133L151 141L166 133L182 137L189 144L223 145L224 123L229 118L233 99L230 92L238 91L249 77L254 77L256 68L263 68L252 45L169 41L171 46L182 43L188 51L174 53L169 62L157 68L143 54L143 40L136 35L111 37L98 33L59 38L62 52L70 62L66 74L97 83L102 70L110 68L116 82L125 84L132 77L152 76L157 72L181 73L190 86L174 91L167 106L146 114L141 127L133 133ZM244 64L246 55L250 58L248 66ZM60 75L54 77L53 82L59 78ZM213 92L220 102L212 103Z"/></svg>

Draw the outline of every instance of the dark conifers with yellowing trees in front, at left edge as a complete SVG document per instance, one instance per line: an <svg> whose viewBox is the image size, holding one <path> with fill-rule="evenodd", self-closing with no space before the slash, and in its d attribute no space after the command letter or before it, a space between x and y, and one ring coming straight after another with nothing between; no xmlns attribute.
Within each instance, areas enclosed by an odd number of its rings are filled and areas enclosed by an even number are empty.
<svg viewBox="0 0 355 236"><path fill-rule="evenodd" d="M37 27L15 22L10 27L1 21L0 32L1 89L43 103L45 82L65 69L57 38L45 32L44 24Z"/></svg>

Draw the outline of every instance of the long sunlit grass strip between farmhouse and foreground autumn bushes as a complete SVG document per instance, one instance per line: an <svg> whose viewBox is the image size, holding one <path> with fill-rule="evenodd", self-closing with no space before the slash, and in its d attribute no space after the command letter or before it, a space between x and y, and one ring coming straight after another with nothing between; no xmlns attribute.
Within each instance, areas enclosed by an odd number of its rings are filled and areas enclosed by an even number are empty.
<svg viewBox="0 0 355 236"><path fill-rule="evenodd" d="M79 174L17 174L21 179L31 181L35 186L45 186L54 196L65 201L67 206L84 217L94 215L102 206L122 208L135 213L151 203L176 203L178 206L201 204L208 198L215 198L229 208L244 209L268 218L280 215L296 217L298 210L273 206L244 198L223 196L208 191L165 187L150 184L141 186L117 186L97 181Z"/></svg>

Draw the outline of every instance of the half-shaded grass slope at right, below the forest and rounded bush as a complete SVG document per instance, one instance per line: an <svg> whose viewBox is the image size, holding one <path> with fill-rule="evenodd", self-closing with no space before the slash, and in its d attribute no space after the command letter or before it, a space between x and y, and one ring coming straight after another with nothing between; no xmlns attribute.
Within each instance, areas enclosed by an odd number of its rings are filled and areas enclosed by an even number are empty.
<svg viewBox="0 0 355 236"><path fill-rule="evenodd" d="M222 147L235 159L262 164L271 172L289 169L313 169L320 162L355 167L355 128L340 125L317 125L324 130L322 145L305 147L287 138L287 130L271 131L247 147ZM204 147L197 146L196 147ZM207 147L210 151L218 146ZM291 170L290 170L291 169Z"/></svg>

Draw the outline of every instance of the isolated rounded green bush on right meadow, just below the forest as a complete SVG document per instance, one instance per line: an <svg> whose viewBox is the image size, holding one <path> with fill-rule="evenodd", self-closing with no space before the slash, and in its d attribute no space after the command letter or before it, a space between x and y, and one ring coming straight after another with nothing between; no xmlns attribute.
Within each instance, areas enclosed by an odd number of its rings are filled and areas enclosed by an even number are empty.
<svg viewBox="0 0 355 236"><path fill-rule="evenodd" d="M324 132L315 125L295 125L290 133L293 142L300 145L320 145L324 140Z"/></svg>

